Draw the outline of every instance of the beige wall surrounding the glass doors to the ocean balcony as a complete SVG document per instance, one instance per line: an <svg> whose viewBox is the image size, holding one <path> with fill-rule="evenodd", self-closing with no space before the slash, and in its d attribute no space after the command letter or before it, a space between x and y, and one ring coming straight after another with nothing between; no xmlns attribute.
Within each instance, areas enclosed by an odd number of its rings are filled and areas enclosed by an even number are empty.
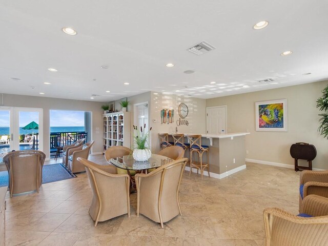
<svg viewBox="0 0 328 246"><path fill-rule="evenodd" d="M40 96L23 96L4 94L4 106L7 107L26 107L26 108L42 108L43 109L43 151L49 157L49 145L50 145L50 110L81 110L92 112L92 140L95 141L93 145L93 152L101 152L101 145L103 140L102 136L102 117L101 114L104 111L101 109L101 105L104 103L98 103L93 101L82 100L69 100L58 99ZM96 133L96 128L99 128L99 132Z"/></svg>

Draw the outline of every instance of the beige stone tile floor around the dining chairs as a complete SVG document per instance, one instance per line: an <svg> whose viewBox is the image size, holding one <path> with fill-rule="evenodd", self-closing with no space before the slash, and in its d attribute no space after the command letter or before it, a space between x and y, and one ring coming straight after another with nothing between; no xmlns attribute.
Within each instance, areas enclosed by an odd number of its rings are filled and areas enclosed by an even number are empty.
<svg viewBox="0 0 328 246"><path fill-rule="evenodd" d="M106 163L103 155L90 156ZM59 160L59 159L58 159ZM91 189L85 173L47 183L39 193L7 195L6 245L264 245L264 208L298 212L300 172L247 163L247 169L224 179L188 173L182 178L182 216L159 224L136 217L99 222L88 215Z"/></svg>

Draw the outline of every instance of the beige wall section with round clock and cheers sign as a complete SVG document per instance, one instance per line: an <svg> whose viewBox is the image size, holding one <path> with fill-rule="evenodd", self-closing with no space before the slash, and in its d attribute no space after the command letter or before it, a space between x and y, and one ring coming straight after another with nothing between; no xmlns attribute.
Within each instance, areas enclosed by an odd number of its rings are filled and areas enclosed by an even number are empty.
<svg viewBox="0 0 328 246"><path fill-rule="evenodd" d="M175 133L176 127L179 133L204 134L206 132L206 99L151 92L151 102L150 126L152 127L153 153L159 151L158 133ZM178 107L180 103L185 103L188 106L189 113L186 120L188 120L189 126L177 126L176 124L179 119ZM160 111L162 109L174 109L173 123L161 124ZM156 119L157 122L153 122L153 119Z"/></svg>

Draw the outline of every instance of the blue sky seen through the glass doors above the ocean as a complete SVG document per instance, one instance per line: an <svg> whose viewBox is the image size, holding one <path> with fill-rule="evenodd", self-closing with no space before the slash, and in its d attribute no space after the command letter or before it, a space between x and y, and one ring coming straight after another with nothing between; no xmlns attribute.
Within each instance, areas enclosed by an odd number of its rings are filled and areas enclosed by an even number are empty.
<svg viewBox="0 0 328 246"><path fill-rule="evenodd" d="M19 127L39 123L37 112L19 112ZM84 111L50 110L50 127L83 127ZM0 110L0 127L9 127L9 111Z"/></svg>

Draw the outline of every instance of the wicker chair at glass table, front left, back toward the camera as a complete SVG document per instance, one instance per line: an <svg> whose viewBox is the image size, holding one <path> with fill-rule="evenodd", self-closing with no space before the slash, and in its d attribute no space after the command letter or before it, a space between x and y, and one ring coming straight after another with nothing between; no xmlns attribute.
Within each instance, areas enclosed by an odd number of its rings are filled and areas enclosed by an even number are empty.
<svg viewBox="0 0 328 246"><path fill-rule="evenodd" d="M105 221L123 214L130 217L130 178L128 174L116 174L116 168L97 165L84 158L77 160L85 166L93 198L89 213L97 226Z"/></svg>

